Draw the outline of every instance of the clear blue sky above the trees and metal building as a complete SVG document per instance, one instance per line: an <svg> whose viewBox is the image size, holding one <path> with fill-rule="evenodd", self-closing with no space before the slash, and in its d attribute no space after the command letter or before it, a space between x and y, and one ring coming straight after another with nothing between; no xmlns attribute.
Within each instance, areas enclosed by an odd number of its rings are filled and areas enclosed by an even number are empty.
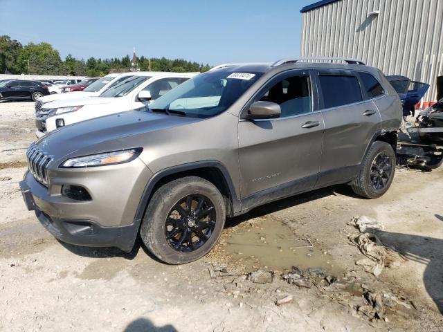
<svg viewBox="0 0 443 332"><path fill-rule="evenodd" d="M0 35L48 42L64 59L138 56L216 65L300 54L303 6L315 0L0 0Z"/></svg>

